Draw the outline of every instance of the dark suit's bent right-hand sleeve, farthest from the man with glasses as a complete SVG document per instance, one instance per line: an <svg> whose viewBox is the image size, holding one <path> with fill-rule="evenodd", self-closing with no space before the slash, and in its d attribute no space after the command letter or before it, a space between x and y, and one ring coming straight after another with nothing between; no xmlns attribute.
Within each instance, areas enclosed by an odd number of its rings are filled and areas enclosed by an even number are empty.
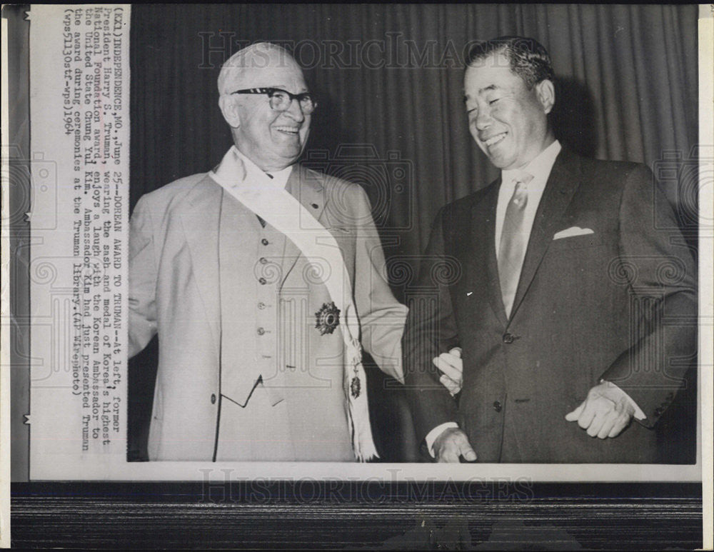
<svg viewBox="0 0 714 552"><path fill-rule="evenodd" d="M620 266L630 292L630 348L603 373L653 426L683 385L696 351L697 277L669 201L645 166L620 201Z"/></svg>

